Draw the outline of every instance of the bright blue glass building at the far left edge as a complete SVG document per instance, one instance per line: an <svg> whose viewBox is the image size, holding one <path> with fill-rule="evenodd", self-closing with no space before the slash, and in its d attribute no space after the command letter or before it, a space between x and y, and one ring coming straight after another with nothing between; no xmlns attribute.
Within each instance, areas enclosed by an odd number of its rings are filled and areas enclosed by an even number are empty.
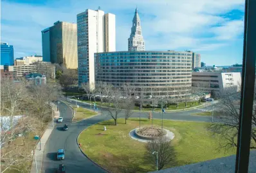
<svg viewBox="0 0 256 173"><path fill-rule="evenodd" d="M0 42L1 45L1 65L14 66L14 46L7 42Z"/></svg>

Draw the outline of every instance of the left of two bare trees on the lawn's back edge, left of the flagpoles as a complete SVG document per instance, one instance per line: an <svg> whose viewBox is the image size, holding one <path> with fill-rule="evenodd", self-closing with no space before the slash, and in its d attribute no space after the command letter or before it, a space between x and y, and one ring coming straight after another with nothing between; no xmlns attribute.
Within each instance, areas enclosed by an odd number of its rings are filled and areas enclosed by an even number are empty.
<svg viewBox="0 0 256 173"><path fill-rule="evenodd" d="M122 111L124 99L121 97L119 88L107 89L107 93L104 99L106 110L113 118L114 124L117 125L118 114Z"/></svg>

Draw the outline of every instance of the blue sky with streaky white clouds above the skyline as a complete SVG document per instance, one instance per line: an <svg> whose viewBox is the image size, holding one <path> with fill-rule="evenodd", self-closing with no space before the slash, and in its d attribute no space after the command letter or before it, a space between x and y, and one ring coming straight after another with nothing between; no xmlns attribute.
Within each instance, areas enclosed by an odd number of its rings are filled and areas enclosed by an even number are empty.
<svg viewBox="0 0 256 173"><path fill-rule="evenodd" d="M196 51L207 66L242 63L244 0L1 0L1 41L15 58L42 55L42 30L77 23L77 14L98 6L116 15L116 51L128 49L137 6L145 50Z"/></svg>

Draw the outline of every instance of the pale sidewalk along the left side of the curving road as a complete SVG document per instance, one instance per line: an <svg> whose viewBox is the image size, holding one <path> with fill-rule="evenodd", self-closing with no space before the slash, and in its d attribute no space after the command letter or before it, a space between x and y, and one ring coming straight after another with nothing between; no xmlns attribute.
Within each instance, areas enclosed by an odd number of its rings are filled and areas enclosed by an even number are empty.
<svg viewBox="0 0 256 173"><path fill-rule="evenodd" d="M51 104L51 107L53 107L53 116L54 119L60 116L60 112L57 111L57 106L55 104ZM48 140L51 131L54 129L55 123L49 122L48 127L44 134L41 137L41 142L39 141L37 145L35 146L35 150L33 153L33 162L32 162L32 168L30 170L30 173L41 173L42 171L42 159L44 155L44 145L46 141Z"/></svg>

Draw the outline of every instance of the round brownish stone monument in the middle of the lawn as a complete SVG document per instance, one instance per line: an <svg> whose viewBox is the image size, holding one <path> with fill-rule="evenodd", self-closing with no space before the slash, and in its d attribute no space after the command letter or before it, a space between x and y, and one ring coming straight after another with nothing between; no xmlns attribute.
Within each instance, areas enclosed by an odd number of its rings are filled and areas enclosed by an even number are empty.
<svg viewBox="0 0 256 173"><path fill-rule="evenodd" d="M167 132L165 129L158 127L142 127L135 130L136 136L144 140L153 140L159 136L165 136Z"/></svg>

